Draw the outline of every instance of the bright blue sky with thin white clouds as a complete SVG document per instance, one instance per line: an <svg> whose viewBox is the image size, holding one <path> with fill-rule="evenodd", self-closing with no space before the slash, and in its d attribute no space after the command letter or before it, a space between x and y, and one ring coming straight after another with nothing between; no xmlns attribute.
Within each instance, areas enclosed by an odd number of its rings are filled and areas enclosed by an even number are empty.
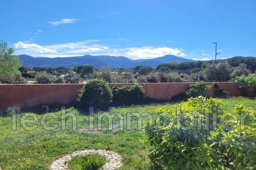
<svg viewBox="0 0 256 170"><path fill-rule="evenodd" d="M34 57L256 56L256 0L0 0L0 39Z"/></svg>

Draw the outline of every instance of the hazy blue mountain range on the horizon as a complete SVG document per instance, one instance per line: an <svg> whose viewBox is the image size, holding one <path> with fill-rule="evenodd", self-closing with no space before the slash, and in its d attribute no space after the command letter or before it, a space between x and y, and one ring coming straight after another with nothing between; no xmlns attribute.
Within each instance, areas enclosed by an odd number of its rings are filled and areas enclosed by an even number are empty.
<svg viewBox="0 0 256 170"><path fill-rule="evenodd" d="M28 55L20 55L24 67L59 67L59 57L32 57ZM60 65L71 68L76 65L92 65L96 68L109 66L111 68L133 68L136 65L151 66L156 68L162 63L176 61L178 63L191 62L192 59L166 55L152 59L129 59L127 57L115 56L78 56L78 57L60 57Z"/></svg>

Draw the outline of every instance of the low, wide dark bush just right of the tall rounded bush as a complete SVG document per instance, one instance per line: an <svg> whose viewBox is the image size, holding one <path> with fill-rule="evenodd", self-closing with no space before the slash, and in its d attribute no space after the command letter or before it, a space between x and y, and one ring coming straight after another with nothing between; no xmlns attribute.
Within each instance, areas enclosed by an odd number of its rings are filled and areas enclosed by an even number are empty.
<svg viewBox="0 0 256 170"><path fill-rule="evenodd" d="M143 103L144 88L141 85L113 87L113 106L128 106Z"/></svg>

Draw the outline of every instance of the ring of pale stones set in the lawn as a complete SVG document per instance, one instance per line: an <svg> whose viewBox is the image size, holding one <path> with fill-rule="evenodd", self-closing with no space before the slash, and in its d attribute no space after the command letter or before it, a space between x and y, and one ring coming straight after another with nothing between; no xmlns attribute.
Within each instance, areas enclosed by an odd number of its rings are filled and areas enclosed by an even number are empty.
<svg viewBox="0 0 256 170"><path fill-rule="evenodd" d="M103 156L106 158L106 164L101 168L101 170L115 170L117 168L120 168L123 163L122 163L122 157L110 150L95 150L95 149L85 149L81 151L75 151L71 154L68 154L60 159L55 160L51 167L50 170L69 170L67 167L67 162L74 156L78 155L90 155L90 154L98 154L100 156Z"/></svg>

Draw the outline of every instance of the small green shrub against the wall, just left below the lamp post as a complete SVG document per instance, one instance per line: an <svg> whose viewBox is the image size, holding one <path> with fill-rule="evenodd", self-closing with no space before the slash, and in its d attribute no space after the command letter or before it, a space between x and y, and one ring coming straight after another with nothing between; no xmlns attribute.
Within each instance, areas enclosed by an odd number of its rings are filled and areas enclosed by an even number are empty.
<svg viewBox="0 0 256 170"><path fill-rule="evenodd" d="M198 97L198 96L210 96L210 86L206 85L205 82L200 81L198 83L189 85L189 89L186 90L186 95L188 97Z"/></svg>

